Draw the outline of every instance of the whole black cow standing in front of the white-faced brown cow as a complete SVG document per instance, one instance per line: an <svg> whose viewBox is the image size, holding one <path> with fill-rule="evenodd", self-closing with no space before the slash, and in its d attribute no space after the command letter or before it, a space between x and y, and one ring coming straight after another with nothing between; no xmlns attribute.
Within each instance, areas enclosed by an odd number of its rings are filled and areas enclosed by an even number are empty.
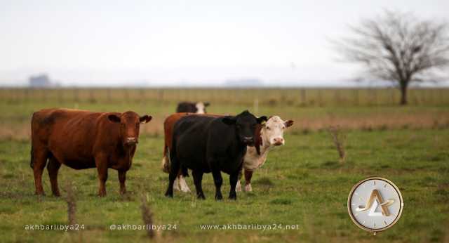
<svg viewBox="0 0 449 243"><path fill-rule="evenodd" d="M203 173L212 172L215 183L215 199L222 199L222 175L229 174L229 199L236 199L236 183L241 171L246 146L253 146L257 124L267 117L255 117L247 110L235 117L182 117L173 128L173 144L170 151L170 176L167 197L173 197L173 183L180 168L192 169L196 197L205 199L201 180Z"/></svg>

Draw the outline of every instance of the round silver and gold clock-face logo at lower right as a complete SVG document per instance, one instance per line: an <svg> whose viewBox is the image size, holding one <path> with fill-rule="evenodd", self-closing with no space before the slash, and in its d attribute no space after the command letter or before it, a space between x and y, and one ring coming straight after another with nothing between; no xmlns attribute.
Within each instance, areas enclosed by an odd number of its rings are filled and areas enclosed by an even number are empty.
<svg viewBox="0 0 449 243"><path fill-rule="evenodd" d="M401 192L385 178L366 178L349 192L349 216L358 227L369 232L390 228L401 217L402 209Z"/></svg>

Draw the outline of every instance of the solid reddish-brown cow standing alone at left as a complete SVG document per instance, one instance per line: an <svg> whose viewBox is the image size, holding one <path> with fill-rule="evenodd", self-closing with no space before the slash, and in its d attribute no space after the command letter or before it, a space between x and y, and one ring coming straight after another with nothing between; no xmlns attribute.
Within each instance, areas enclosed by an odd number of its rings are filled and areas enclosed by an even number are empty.
<svg viewBox="0 0 449 243"><path fill-rule="evenodd" d="M34 112L31 122L31 168L36 195L43 195L42 173L48 159L48 176L53 195L60 196L58 170L97 167L100 188L106 195L107 169L119 172L120 193L126 192L126 171L130 169L139 138L140 123L152 117L135 112L89 112L47 109Z"/></svg>

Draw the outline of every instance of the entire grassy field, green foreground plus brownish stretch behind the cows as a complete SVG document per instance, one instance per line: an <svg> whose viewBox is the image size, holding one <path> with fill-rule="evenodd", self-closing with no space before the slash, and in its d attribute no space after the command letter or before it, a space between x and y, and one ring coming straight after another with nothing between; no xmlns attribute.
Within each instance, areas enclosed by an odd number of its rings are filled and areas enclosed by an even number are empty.
<svg viewBox="0 0 449 243"><path fill-rule="evenodd" d="M8 100L5 96L0 100ZM201 96L199 96L201 99ZM45 197L34 195L29 168L29 117L43 107L79 107L154 115L140 137L133 167L128 171L128 195L119 195L116 172L109 170L108 195L96 197L95 169L60 169L62 197L51 195L46 171ZM209 111L236 113L253 105L213 103ZM449 112L446 105L342 105L341 107L283 106L260 103L257 114L294 119L286 145L273 150L253 176L253 192L238 200L215 202L213 179L206 174L206 201L194 193L175 191L163 197L168 175L161 171L163 117L174 101L8 100L0 103L0 232L1 242L140 242L144 230L109 230L109 225L143 224L142 197L156 225L177 225L156 233L156 242L448 242L449 241ZM373 123L375 117L379 120ZM304 121L305 120L305 121ZM323 121L324 120L324 121ZM314 122L320 122L315 126ZM347 123L344 123L344 122ZM371 123L370 123L371 122ZM348 124L352 124L349 126ZM341 126L347 159L338 153L326 131ZM382 126L383 125L383 126ZM347 213L351 187L368 176L383 176L401 189L404 210L396 225L378 235L363 232ZM25 230L25 225L67 224L66 186L76 196L76 223L84 230ZM187 183L193 189L192 178ZM224 195L229 191L224 177ZM201 230L203 224L298 225L295 230Z"/></svg>

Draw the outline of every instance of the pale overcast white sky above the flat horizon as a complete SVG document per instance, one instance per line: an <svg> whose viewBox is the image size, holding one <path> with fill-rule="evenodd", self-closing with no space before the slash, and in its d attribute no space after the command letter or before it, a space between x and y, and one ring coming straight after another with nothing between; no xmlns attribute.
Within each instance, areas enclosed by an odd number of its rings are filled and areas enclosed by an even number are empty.
<svg viewBox="0 0 449 243"><path fill-rule="evenodd" d="M384 9L448 20L448 0L4 1L0 86L351 86L361 67L330 40Z"/></svg>

